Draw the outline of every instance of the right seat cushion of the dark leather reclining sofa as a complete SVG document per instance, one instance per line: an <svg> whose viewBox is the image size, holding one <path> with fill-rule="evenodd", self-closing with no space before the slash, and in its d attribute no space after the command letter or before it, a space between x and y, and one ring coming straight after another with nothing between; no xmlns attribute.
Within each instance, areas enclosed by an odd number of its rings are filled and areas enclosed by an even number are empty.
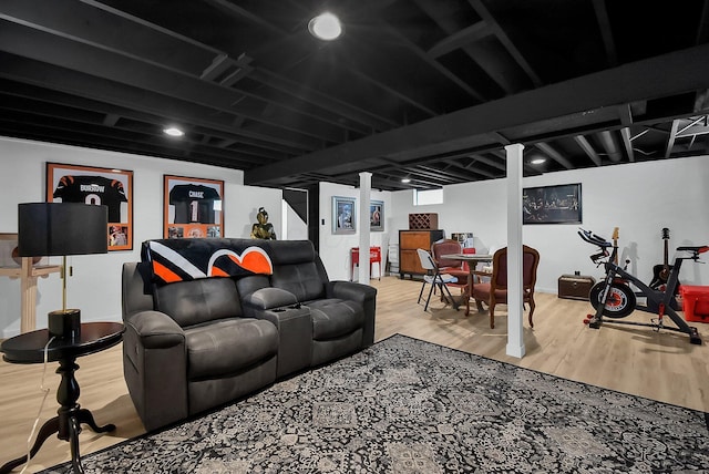
<svg viewBox="0 0 709 474"><path fill-rule="evenodd" d="M356 301L329 298L308 301L306 306L310 308L315 340L347 336L364 322L364 310Z"/></svg>

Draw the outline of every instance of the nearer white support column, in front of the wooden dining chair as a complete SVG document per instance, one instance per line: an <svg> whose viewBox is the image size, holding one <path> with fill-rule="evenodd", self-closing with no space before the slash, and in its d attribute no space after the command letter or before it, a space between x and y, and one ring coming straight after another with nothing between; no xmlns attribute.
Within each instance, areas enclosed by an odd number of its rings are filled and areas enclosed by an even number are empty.
<svg viewBox="0 0 709 474"><path fill-rule="evenodd" d="M524 145L505 146L507 152L507 356L524 357L522 318L522 161Z"/></svg>

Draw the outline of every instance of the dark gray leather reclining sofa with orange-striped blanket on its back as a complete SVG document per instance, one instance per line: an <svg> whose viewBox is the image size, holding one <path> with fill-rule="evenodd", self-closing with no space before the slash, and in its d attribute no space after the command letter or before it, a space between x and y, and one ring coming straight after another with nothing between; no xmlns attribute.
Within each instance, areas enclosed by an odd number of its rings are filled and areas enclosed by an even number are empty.
<svg viewBox="0 0 709 474"><path fill-rule="evenodd" d="M377 290L330 281L308 240L148 240L122 285L124 375L148 431L374 339Z"/></svg>

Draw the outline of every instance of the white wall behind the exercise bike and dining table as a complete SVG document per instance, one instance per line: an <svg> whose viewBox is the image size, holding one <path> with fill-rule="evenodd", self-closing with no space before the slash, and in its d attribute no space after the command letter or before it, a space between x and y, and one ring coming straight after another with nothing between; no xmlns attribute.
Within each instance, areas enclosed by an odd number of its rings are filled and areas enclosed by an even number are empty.
<svg viewBox="0 0 709 474"><path fill-rule="evenodd" d="M598 279L588 258L596 249L576 234L578 227L610 238L619 227L624 255L636 255L630 271L645 281L662 262L661 228L670 229L670 260L678 246L709 244L709 157L691 157L612 167L594 167L524 178L525 187L582 183L583 224L525 225L523 239L541 254L537 290L557 291L561 275L578 270ZM438 213L445 235L472 231L479 253L505 246L505 179L446 186L444 204L413 206L412 192L391 195L395 216L390 228L407 229L409 213ZM399 240L398 233L392 239ZM705 254L703 260L709 262ZM682 264L680 281L709 285L709 265Z"/></svg>

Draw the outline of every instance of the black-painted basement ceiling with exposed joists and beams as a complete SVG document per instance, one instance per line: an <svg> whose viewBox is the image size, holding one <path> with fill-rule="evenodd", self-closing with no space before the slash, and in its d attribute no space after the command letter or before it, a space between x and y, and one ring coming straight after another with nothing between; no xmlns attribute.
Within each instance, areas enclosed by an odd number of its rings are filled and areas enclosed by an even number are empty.
<svg viewBox="0 0 709 474"><path fill-rule="evenodd" d="M510 143L526 175L705 155L708 3L2 0L0 134L271 187L496 178Z"/></svg>

